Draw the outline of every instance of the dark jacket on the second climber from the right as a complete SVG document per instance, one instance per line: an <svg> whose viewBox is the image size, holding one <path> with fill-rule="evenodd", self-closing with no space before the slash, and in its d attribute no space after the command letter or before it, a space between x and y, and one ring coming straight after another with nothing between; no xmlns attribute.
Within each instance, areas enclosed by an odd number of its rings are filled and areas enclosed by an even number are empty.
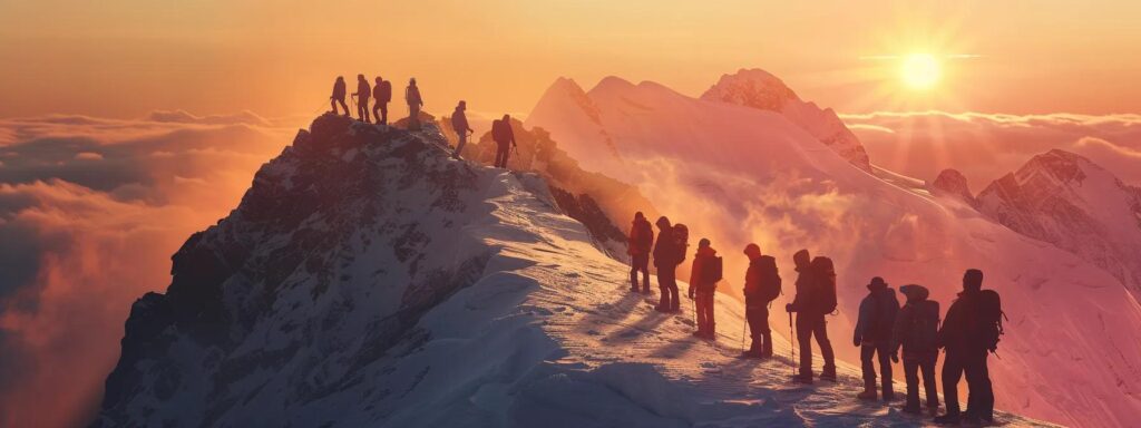
<svg viewBox="0 0 1141 428"><path fill-rule="evenodd" d="M928 300L928 290L921 285L904 285L899 291L907 296L907 302L899 309L891 330L892 353L903 347L904 360L938 354L939 302Z"/></svg>

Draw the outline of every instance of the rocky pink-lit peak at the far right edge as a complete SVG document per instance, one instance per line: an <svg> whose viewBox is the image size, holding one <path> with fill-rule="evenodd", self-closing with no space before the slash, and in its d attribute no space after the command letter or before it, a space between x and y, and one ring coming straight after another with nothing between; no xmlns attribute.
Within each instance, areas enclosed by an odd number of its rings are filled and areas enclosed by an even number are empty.
<svg viewBox="0 0 1141 428"><path fill-rule="evenodd" d="M1052 243L1141 294L1141 189L1081 155L1053 150L994 181L979 211Z"/></svg>

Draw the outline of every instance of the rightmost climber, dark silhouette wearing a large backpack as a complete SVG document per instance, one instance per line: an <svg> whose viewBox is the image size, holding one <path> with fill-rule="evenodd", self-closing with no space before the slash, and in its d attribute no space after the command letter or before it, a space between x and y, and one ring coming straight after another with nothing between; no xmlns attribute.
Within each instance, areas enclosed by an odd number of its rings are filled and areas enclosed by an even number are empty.
<svg viewBox="0 0 1141 428"><path fill-rule="evenodd" d="M995 396L987 369L987 353L997 349L1002 334L1002 304L994 290L982 290L982 270L963 274L963 292L947 308L939 329L939 347L947 349L942 362L942 399L947 413L936 423L956 425L994 421ZM958 379L966 375L966 412L958 411Z"/></svg>

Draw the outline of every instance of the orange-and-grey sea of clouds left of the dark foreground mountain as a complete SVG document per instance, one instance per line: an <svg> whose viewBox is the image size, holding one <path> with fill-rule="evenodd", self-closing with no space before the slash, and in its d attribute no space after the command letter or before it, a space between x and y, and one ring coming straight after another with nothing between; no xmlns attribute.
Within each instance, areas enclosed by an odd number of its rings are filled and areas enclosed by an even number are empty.
<svg viewBox="0 0 1141 428"><path fill-rule="evenodd" d="M0 120L0 426L86 422L131 302L294 131L252 113Z"/></svg>

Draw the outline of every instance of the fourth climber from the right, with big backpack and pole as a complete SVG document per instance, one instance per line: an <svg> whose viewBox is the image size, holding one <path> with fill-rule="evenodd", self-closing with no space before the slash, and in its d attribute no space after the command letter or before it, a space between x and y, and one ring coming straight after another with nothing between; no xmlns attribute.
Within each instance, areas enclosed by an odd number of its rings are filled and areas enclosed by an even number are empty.
<svg viewBox="0 0 1141 428"><path fill-rule="evenodd" d="M827 322L824 315L836 308L835 281L836 274L832 260L826 257L811 259L808 250L796 251L792 257L796 264L796 296L785 305L785 310L796 313L796 344L800 346L800 373L793 381L812 382L812 336L820 346L824 357L824 370L820 379L836 380L836 360L828 341ZM831 290L830 290L831 286ZM831 292L831 296L830 296Z"/></svg>

